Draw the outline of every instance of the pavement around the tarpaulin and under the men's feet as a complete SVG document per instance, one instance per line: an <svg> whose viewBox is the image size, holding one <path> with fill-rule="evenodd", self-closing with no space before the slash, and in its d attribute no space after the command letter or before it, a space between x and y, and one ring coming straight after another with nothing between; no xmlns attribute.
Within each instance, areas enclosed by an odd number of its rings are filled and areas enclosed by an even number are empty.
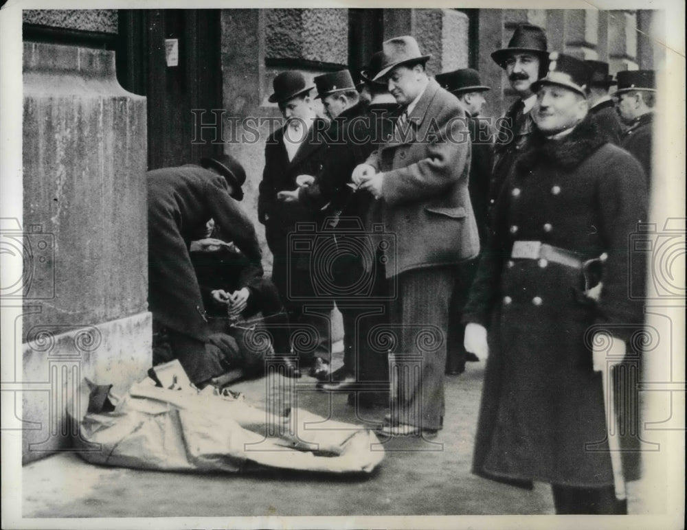
<svg viewBox="0 0 687 530"><path fill-rule="evenodd" d="M339 360L340 362L340 360ZM393 439L369 476L270 470L251 474L184 474L103 468L57 454L23 468L24 517L349 516L553 514L548 485L532 491L470 473L484 362L447 376L447 416L432 444ZM298 406L360 423L380 421L383 408L359 417L346 394L299 392ZM236 389L264 393L264 380ZM630 489L632 494L633 489ZM636 503L630 498L631 513Z"/></svg>

